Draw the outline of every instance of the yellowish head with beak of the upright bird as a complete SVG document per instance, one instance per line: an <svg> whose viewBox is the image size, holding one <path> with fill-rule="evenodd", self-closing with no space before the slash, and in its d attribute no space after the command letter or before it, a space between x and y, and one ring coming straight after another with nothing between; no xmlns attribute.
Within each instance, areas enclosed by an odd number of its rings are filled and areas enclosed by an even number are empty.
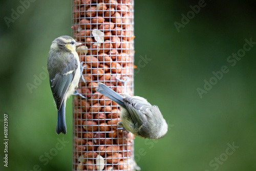
<svg viewBox="0 0 256 171"><path fill-rule="evenodd" d="M52 49L64 50L64 51L75 51L76 46L81 45L81 43L76 42L76 40L70 36L60 36L55 38L52 42Z"/></svg>

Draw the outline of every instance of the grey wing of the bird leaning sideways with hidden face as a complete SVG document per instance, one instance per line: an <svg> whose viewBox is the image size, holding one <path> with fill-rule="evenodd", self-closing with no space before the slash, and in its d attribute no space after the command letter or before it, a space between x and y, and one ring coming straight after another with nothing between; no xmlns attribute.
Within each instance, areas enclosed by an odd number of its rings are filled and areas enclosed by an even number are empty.
<svg viewBox="0 0 256 171"><path fill-rule="evenodd" d="M147 121L147 113L151 112L151 104L146 99L139 96L126 96L123 100L136 126L139 127Z"/></svg>

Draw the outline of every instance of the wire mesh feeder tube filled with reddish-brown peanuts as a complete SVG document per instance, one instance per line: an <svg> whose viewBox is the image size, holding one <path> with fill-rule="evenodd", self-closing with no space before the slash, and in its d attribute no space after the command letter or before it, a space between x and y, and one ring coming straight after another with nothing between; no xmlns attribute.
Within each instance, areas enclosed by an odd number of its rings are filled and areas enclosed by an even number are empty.
<svg viewBox="0 0 256 171"><path fill-rule="evenodd" d="M117 130L120 106L95 91L102 82L134 94L134 2L74 0L72 24L86 97L73 98L73 170L135 170L134 135Z"/></svg>

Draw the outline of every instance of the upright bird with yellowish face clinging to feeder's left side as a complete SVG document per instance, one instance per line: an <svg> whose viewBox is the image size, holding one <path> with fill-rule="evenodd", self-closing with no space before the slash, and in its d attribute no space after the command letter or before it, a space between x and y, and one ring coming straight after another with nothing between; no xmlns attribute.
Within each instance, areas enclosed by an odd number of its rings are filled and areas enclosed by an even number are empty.
<svg viewBox="0 0 256 171"><path fill-rule="evenodd" d="M50 86L58 110L56 133L66 134L65 107L67 98L74 93L80 79L80 61L76 53L76 42L70 36L53 40L48 55L47 68Z"/></svg>

